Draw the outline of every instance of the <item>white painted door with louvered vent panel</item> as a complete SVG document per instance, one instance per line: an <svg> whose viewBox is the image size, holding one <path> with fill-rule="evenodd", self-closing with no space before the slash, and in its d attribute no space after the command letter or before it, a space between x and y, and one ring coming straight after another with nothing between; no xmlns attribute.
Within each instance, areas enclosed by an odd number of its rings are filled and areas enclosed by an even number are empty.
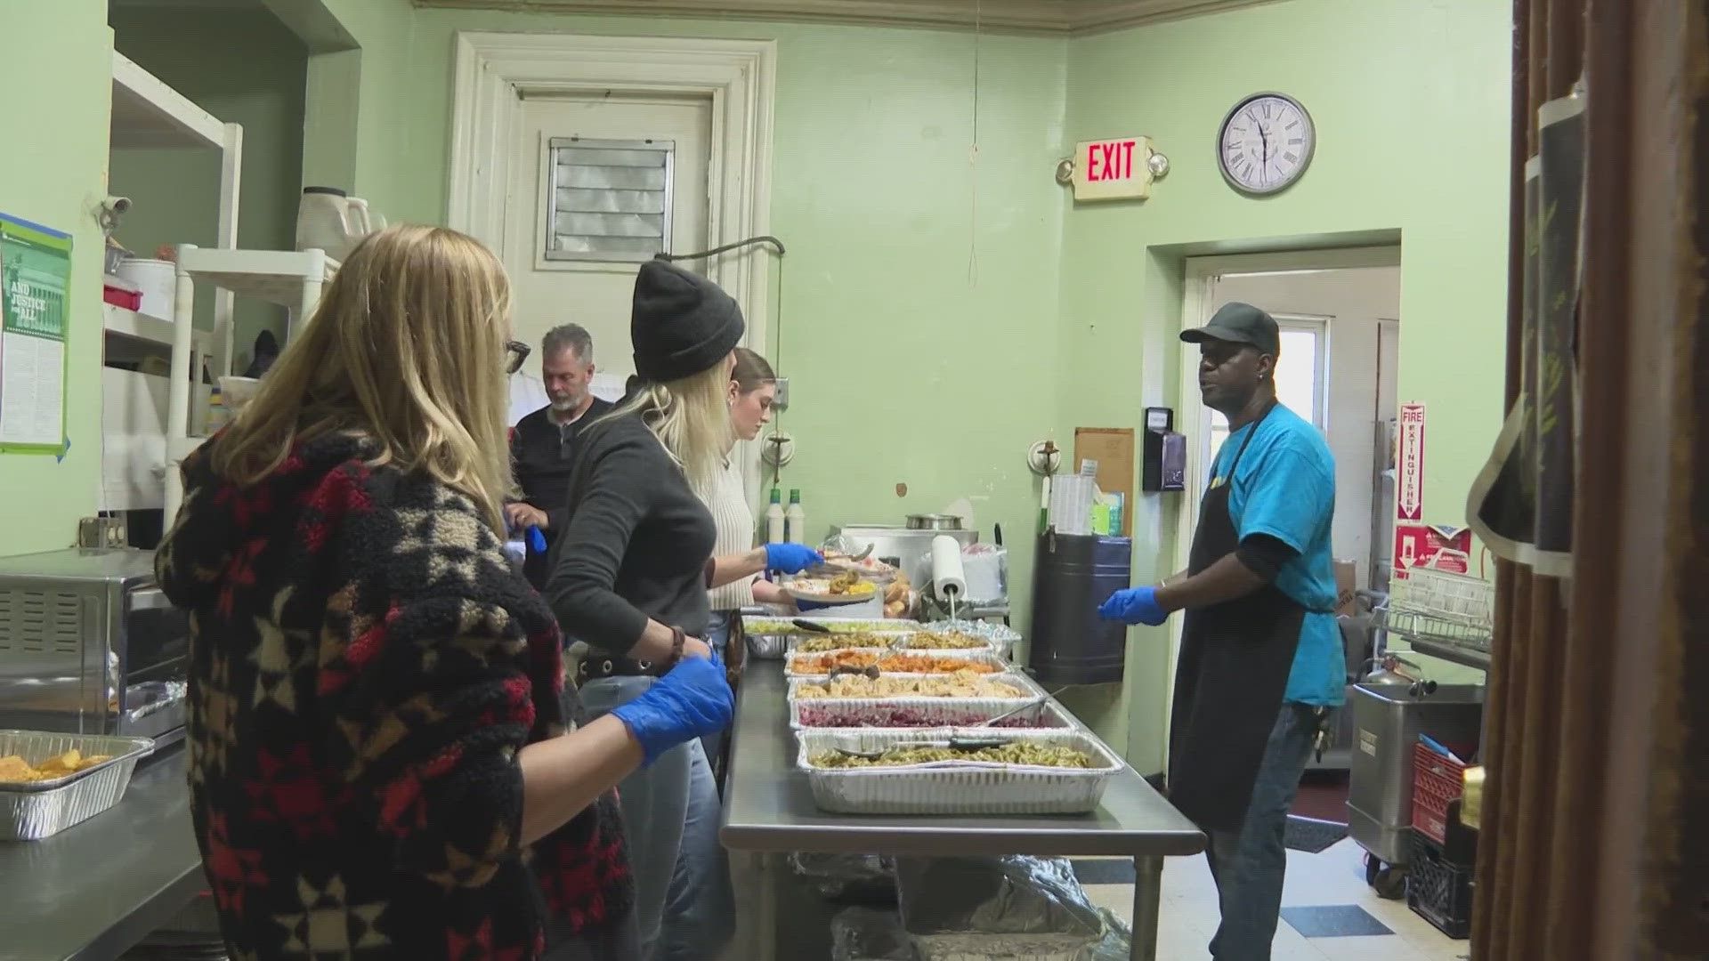
<svg viewBox="0 0 1709 961"><path fill-rule="evenodd" d="M639 262L663 250L644 236L646 224L658 219L651 214L658 192L643 188L668 183L663 193L668 197L672 253L706 250L711 118L711 99L528 96L523 101L502 256L514 287L516 339L535 347L525 376L540 374L540 337L561 323L588 328L600 373L619 380L634 373L629 349L634 275ZM579 147L583 144L586 149ZM663 178L646 169L644 150L624 150L643 144L670 147ZM561 149L561 164L552 162L554 147ZM559 198L557 222L550 217L552 197ZM573 236L566 236L564 227ZM607 246L627 245L636 253L615 262L562 260L550 253L576 256L566 248L590 246L583 241L595 234L608 238ZM704 263L685 262L684 267L702 270Z"/></svg>

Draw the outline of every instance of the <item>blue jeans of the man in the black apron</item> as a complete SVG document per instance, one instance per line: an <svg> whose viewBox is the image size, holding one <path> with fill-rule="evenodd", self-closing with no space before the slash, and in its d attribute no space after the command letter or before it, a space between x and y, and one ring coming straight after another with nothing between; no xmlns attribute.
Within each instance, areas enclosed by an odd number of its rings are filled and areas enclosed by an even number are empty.
<svg viewBox="0 0 1709 961"><path fill-rule="evenodd" d="M1287 874L1282 838L1289 807L1299 793L1299 778L1318 739L1314 711L1309 705L1282 705L1258 766L1246 821L1239 831L1208 831L1205 858L1222 908L1222 925L1210 939L1210 956L1217 961L1270 961Z"/></svg>

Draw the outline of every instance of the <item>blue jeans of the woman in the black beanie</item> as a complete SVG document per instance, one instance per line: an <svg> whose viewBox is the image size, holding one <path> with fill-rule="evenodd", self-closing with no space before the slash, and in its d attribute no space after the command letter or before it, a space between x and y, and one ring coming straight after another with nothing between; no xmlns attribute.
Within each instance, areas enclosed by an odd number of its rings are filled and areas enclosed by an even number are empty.
<svg viewBox="0 0 1709 961"><path fill-rule="evenodd" d="M598 677L581 686L581 703L588 708L590 718L595 718L639 698L651 686L651 677ZM617 804L624 811L629 841L629 865L636 877L641 952L634 958L649 958L660 937L665 898L677 870L677 853L689 817L692 764L689 747L689 744L672 747L617 785ZM713 829L716 833L716 817Z"/></svg>

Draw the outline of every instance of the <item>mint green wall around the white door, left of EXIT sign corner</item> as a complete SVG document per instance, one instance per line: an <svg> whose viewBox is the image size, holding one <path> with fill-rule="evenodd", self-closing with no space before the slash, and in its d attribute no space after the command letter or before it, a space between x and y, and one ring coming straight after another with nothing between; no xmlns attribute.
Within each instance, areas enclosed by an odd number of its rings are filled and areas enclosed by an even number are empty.
<svg viewBox="0 0 1709 961"><path fill-rule="evenodd" d="M979 41L972 168L969 34L364 10L385 29L364 38L361 21L347 22L364 43L355 186L393 219L434 222L446 209L456 31L776 39L772 233L790 253L774 327L781 357L776 342L767 349L793 378L784 426L798 438L783 482L803 489L815 527L901 523L967 498L986 535L1000 522L1019 540L1010 578L1031 583L1037 489L1025 450L1058 422L1049 381L1063 210L1051 171L1065 41ZM374 128L383 135L367 137Z"/></svg>

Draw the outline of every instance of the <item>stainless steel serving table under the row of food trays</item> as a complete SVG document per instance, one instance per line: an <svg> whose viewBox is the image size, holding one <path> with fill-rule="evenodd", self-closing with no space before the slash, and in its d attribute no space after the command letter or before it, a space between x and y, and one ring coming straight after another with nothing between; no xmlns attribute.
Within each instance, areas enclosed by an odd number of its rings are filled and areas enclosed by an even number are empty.
<svg viewBox="0 0 1709 961"><path fill-rule="evenodd" d="M790 852L873 855L1123 855L1133 858L1135 961L1157 956L1157 901L1162 858L1196 855L1205 834L1169 805L1133 768L1109 785L1102 805L1085 816L918 817L825 814L807 778L795 769L795 735L784 706L783 667L750 663L731 727L725 821L719 838L733 853L752 855L754 896L738 898L757 935L759 961L778 958L776 886ZM740 887L738 887L740 891Z"/></svg>

